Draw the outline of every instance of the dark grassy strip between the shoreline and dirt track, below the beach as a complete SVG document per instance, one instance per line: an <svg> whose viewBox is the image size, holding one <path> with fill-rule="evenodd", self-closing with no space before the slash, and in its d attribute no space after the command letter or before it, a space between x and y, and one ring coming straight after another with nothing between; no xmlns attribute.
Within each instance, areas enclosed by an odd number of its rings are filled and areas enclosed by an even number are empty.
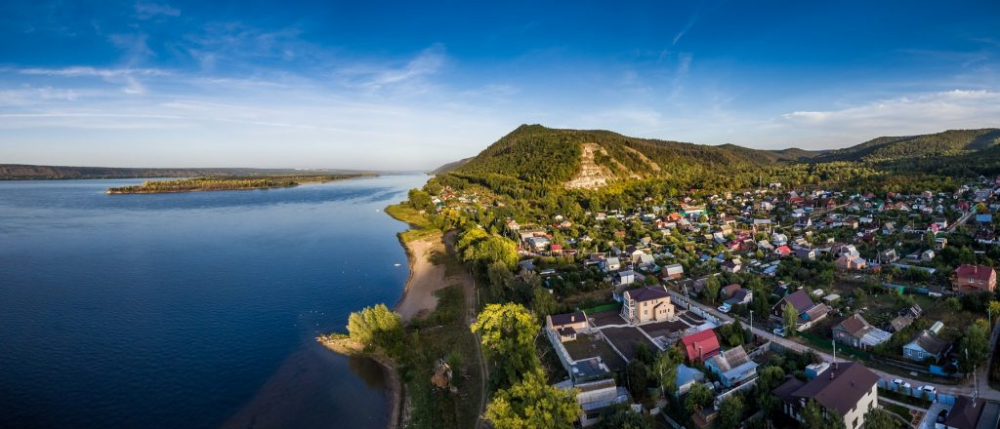
<svg viewBox="0 0 1000 429"><path fill-rule="evenodd" d="M465 321L465 294L461 285L452 285L438 291L437 296L437 309L407 328L410 351L404 380L412 407L409 427L474 427L483 374L476 357L476 337ZM457 393L431 384L440 359L451 365Z"/></svg>

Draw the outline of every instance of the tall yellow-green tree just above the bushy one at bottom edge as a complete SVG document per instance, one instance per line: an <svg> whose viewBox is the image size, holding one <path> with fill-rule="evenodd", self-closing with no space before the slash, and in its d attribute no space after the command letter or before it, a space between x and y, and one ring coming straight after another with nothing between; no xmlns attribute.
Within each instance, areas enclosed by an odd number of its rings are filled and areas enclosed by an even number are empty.
<svg viewBox="0 0 1000 429"><path fill-rule="evenodd" d="M496 364L497 374L491 380L497 386L514 385L539 367L538 330L538 319L518 304L490 304L479 313L472 332L480 334L486 354Z"/></svg>

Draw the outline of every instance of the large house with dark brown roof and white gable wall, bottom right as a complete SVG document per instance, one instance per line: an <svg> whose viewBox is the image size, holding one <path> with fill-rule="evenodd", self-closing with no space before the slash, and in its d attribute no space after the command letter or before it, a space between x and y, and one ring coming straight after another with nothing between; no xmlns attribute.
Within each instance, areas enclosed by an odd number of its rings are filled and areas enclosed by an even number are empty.
<svg viewBox="0 0 1000 429"><path fill-rule="evenodd" d="M836 413L847 429L865 424L865 414L878 407L879 376L859 363L834 363L808 382L790 378L772 392L782 401L782 411L805 422L803 410L816 401L824 415Z"/></svg>

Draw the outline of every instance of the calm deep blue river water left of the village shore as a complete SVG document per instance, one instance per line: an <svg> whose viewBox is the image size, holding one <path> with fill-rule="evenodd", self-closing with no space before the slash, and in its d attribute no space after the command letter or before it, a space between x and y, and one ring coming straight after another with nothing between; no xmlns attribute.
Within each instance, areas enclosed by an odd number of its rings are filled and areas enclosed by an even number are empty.
<svg viewBox="0 0 1000 429"><path fill-rule="evenodd" d="M399 299L381 209L425 180L0 182L0 427L384 427L378 367L313 338Z"/></svg>

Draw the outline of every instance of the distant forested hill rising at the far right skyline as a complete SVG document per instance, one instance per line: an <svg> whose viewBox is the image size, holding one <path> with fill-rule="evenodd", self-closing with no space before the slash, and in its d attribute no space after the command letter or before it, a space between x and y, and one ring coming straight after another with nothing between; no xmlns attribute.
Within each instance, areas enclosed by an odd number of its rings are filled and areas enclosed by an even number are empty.
<svg viewBox="0 0 1000 429"><path fill-rule="evenodd" d="M1000 145L1000 129L949 130L937 134L879 137L845 149L829 151L815 160L884 162L912 158L955 156Z"/></svg>

